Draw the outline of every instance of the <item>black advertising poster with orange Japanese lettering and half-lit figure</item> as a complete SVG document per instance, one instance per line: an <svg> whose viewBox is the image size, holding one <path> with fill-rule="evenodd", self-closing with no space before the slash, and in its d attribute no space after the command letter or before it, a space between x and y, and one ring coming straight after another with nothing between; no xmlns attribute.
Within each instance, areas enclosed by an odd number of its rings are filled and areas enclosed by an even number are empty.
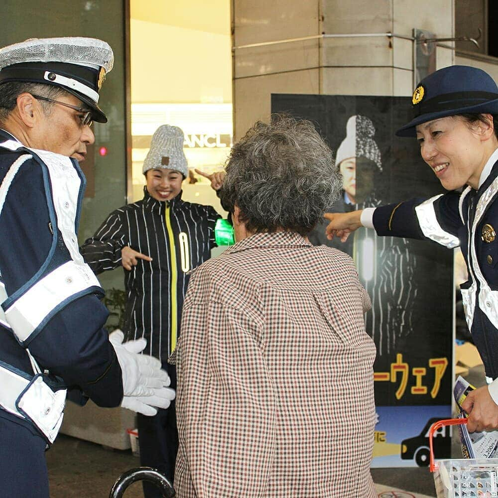
<svg viewBox="0 0 498 498"><path fill-rule="evenodd" d="M272 95L271 111L312 121L334 151L343 191L330 212L376 207L444 190L415 138L394 132L409 121L409 97ZM328 241L327 223L310 235L349 253L372 299L366 330L375 341L377 425L373 467L426 466L430 424L451 416L453 251L426 241L376 237L359 229ZM449 429L437 435L450 458Z"/></svg>

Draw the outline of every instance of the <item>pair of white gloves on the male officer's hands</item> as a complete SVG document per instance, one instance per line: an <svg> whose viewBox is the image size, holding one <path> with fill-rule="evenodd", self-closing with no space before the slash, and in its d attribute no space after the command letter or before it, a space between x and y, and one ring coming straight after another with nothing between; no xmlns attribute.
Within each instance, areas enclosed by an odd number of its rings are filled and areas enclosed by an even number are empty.
<svg viewBox="0 0 498 498"><path fill-rule="evenodd" d="M139 354L147 344L144 338L125 343L123 340L121 330L109 335L123 373L124 397L121 406L144 415L155 415L155 407L167 408L175 399L174 389L166 387L171 382L169 375L161 369L157 358Z"/></svg>

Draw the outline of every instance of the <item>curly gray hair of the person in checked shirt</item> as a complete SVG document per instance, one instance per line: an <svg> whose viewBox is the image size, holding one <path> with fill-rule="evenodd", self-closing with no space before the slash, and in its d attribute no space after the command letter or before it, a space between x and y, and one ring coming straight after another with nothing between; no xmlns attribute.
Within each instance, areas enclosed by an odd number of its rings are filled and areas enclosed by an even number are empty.
<svg viewBox="0 0 498 498"><path fill-rule="evenodd" d="M232 148L220 197L241 210L250 232L306 235L342 188L333 154L310 121L273 115L255 123Z"/></svg>

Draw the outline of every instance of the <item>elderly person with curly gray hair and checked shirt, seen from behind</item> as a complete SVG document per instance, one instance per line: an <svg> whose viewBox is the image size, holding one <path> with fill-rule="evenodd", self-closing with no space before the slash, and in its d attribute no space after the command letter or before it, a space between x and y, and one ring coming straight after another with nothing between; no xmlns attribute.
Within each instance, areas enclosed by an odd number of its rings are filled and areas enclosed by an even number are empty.
<svg viewBox="0 0 498 498"><path fill-rule="evenodd" d="M307 238L341 189L307 121L234 145L236 244L192 271L177 365L179 498L375 496L375 346L351 258Z"/></svg>

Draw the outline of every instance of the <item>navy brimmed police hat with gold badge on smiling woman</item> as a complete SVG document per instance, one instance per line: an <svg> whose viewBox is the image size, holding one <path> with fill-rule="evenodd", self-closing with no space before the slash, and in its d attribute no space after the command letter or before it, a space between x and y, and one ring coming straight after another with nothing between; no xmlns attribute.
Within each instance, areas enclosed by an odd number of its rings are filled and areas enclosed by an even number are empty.
<svg viewBox="0 0 498 498"><path fill-rule="evenodd" d="M415 126L458 114L498 114L498 87L483 71L470 66L449 66L426 76L412 97L413 119L396 131L416 136Z"/></svg>

